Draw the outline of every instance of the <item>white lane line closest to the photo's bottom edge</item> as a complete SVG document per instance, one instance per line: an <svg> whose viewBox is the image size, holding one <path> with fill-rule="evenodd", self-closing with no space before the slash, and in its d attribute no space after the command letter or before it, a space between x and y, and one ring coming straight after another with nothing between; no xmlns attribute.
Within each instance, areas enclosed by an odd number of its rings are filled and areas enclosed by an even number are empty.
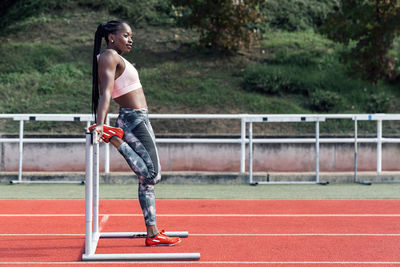
<svg viewBox="0 0 400 267"><path fill-rule="evenodd" d="M78 264L92 264L92 265L126 265L126 264L148 265L148 264L182 264L182 261L89 261L89 262L0 262L0 265L78 265ZM186 265L201 265L201 264L240 264L240 265L298 265L298 264L311 264L311 265L398 265L400 261L185 261Z"/></svg>

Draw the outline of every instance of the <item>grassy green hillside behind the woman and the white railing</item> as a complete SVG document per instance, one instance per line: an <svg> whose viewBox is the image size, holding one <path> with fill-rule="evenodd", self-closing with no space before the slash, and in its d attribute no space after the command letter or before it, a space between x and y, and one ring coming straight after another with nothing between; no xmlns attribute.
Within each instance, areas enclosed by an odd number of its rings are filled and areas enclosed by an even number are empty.
<svg viewBox="0 0 400 267"><path fill-rule="evenodd" d="M12 5L11 3L17 2ZM151 113L397 113L398 83L348 74L347 47L316 33L334 0L268 1L261 39L227 56L198 45L178 26L167 0L5 1L0 11L0 113L90 113L93 36L99 23L125 18L134 28L135 63ZM290 3L289 3L290 2ZM146 3L146 4L144 4ZM139 12L140 11L140 12ZM397 55L398 42L391 53ZM117 113L115 104L110 112ZM234 122L154 121L159 134L238 134ZM344 127L337 129L338 124ZM351 122L322 131L340 134ZM375 131L374 124L362 129ZM84 124L32 122L32 133L81 133ZM385 124L390 133L400 128ZM0 133L16 132L0 121ZM260 126L265 134L313 133L311 125Z"/></svg>

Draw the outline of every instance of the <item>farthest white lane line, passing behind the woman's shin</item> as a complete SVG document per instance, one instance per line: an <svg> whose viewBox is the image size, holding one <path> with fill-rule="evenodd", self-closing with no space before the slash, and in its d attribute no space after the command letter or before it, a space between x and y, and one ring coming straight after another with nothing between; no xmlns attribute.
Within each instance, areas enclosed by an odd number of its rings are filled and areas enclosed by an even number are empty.
<svg viewBox="0 0 400 267"><path fill-rule="evenodd" d="M83 217L85 214L0 214L0 217ZM99 216L142 217L143 214L108 213ZM157 214L158 217L400 217L400 214Z"/></svg>

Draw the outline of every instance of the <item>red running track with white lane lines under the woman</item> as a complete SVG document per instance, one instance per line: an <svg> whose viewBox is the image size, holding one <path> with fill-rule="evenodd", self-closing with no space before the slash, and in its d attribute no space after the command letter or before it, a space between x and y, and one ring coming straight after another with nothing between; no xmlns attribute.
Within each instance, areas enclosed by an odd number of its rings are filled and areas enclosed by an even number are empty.
<svg viewBox="0 0 400 267"><path fill-rule="evenodd" d="M400 200L157 200L176 247L101 239L96 253L200 252L194 262L82 262L84 200L0 200L0 265L400 266ZM144 231L137 200L101 200L103 232Z"/></svg>

